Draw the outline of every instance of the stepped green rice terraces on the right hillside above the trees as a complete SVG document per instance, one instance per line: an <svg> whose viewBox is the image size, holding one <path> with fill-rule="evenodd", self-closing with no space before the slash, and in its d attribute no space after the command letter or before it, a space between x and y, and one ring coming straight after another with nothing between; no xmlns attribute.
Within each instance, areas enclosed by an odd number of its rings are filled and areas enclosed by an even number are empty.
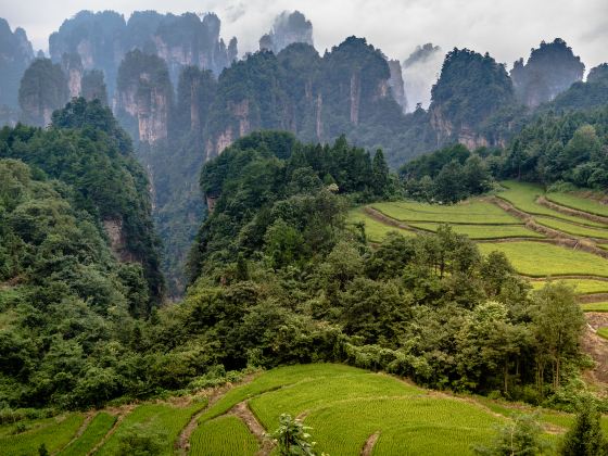
<svg viewBox="0 0 608 456"><path fill-rule="evenodd" d="M353 210L351 223L363 221L366 236L381 243L389 231L405 236L433 232L442 224L479 243L482 254L504 252L534 289L547 280L573 286L587 313L588 339L608 353L608 205L596 195L546 193L540 186L502 183L493 197L455 205L413 201L375 203ZM604 314L601 314L604 313ZM604 338L604 339L603 339ZM606 359L592 356L606 364ZM608 366L600 367L608 380Z"/></svg>

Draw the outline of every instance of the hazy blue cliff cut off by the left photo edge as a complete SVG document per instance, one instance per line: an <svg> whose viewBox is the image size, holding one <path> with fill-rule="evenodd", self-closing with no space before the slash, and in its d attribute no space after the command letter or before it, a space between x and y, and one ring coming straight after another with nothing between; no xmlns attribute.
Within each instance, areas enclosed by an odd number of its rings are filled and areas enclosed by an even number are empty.
<svg viewBox="0 0 608 456"><path fill-rule="evenodd" d="M17 93L23 73L34 60L31 43L23 28L11 31L0 18L0 105L4 111L18 106Z"/></svg>

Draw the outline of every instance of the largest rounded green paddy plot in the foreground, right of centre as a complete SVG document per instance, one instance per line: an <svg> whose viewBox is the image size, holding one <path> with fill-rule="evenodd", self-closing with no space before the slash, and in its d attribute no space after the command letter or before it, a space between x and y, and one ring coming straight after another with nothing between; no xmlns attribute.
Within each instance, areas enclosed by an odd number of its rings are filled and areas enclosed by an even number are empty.
<svg viewBox="0 0 608 456"><path fill-rule="evenodd" d="M356 455L375 432L375 455L470 454L487 443L498 418L461 401L443 397L379 397L337 402L316 409L304 422L319 452Z"/></svg>

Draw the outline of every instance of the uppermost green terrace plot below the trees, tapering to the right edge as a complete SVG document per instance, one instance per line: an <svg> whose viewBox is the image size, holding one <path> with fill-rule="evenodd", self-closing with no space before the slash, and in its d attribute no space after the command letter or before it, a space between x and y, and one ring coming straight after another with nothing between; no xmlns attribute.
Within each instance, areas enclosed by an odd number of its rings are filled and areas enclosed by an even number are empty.
<svg viewBox="0 0 608 456"><path fill-rule="evenodd" d="M496 197L508 201L520 211L527 212L532 215L548 215L552 217L560 218L562 220L580 223L593 227L604 227L604 225L600 223L561 214L560 212L554 211L536 203L536 198L544 194L544 190L541 186L529 182L517 182L515 180L506 180L501 182L501 185L505 188L505 190L496 193Z"/></svg>

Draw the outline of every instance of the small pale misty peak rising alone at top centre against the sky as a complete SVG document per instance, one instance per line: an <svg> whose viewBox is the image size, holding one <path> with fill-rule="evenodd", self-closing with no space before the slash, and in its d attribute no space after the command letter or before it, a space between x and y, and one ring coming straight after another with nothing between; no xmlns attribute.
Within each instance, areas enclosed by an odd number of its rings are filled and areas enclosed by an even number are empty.
<svg viewBox="0 0 608 456"><path fill-rule="evenodd" d="M283 11L275 18L273 29L259 39L259 50L279 53L294 42L314 46L313 24L300 11Z"/></svg>

